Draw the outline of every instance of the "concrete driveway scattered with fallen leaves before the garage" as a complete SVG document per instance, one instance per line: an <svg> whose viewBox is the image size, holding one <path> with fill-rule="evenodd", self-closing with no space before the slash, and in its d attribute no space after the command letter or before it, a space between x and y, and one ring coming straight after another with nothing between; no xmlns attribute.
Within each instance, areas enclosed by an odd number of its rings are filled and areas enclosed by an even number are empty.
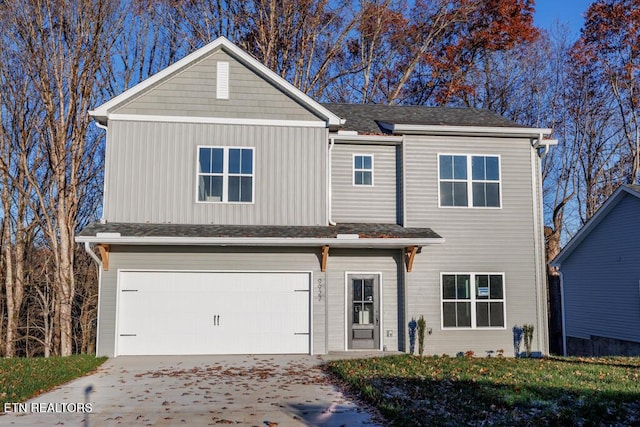
<svg viewBox="0 0 640 427"><path fill-rule="evenodd" d="M5 413L0 424L380 425L371 408L328 382L321 363L318 356L117 357L27 402L27 413ZM90 413L80 412L85 403Z"/></svg>

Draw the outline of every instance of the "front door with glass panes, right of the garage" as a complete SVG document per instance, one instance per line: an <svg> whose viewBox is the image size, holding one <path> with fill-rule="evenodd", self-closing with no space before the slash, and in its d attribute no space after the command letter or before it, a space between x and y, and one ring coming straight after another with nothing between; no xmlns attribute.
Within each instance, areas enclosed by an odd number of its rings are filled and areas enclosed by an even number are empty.
<svg viewBox="0 0 640 427"><path fill-rule="evenodd" d="M377 274L347 276L349 350L380 349L379 288Z"/></svg>

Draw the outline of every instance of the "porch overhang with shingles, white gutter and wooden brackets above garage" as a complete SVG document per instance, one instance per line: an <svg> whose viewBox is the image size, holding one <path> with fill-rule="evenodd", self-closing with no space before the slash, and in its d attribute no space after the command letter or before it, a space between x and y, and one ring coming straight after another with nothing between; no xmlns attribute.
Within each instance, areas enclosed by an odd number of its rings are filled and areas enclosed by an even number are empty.
<svg viewBox="0 0 640 427"><path fill-rule="evenodd" d="M335 226L253 226L95 223L76 237L88 252L94 245L108 268L108 248L134 246L312 247L320 249L320 270L326 271L333 248L401 249L407 272L424 246L440 245L444 238L430 228L397 224L339 224ZM97 259L97 257L96 257Z"/></svg>

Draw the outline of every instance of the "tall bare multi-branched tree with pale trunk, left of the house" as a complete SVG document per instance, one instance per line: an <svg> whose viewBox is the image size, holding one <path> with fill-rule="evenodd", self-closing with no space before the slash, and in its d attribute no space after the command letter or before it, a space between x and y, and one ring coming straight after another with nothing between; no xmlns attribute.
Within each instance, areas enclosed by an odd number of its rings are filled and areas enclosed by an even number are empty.
<svg viewBox="0 0 640 427"><path fill-rule="evenodd" d="M72 353L74 236L82 185L95 174L98 149L95 140L86 138L88 111L101 85L96 75L109 58L118 6L106 0L25 0L5 3L2 16L13 30L9 47L42 104L38 142L46 154L51 186L44 191L32 173L27 179L53 253L56 323L64 356Z"/></svg>

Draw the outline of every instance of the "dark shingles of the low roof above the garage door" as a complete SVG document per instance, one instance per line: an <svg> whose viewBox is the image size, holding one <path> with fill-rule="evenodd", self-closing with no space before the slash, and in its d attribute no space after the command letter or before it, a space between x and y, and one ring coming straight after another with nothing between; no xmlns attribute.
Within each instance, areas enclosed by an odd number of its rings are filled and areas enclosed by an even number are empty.
<svg viewBox="0 0 640 427"><path fill-rule="evenodd" d="M265 226L202 224L93 223L78 234L120 233L130 237L280 237L335 238L338 234L358 234L364 238L439 239L430 228L405 228L396 224L338 224L336 226Z"/></svg>

